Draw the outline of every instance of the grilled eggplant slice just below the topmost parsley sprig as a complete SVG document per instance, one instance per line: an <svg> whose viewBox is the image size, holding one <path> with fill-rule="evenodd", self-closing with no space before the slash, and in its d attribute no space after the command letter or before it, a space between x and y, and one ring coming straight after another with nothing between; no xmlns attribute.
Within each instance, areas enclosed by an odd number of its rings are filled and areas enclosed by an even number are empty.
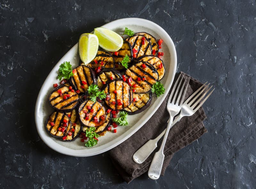
<svg viewBox="0 0 256 189"><path fill-rule="evenodd" d="M142 38L145 38L145 40L142 40ZM152 55L151 43L145 36L133 35L132 37L128 37L126 41L131 44L132 49L136 49L138 51L136 57L133 55L134 58L138 58L144 55Z"/></svg>

